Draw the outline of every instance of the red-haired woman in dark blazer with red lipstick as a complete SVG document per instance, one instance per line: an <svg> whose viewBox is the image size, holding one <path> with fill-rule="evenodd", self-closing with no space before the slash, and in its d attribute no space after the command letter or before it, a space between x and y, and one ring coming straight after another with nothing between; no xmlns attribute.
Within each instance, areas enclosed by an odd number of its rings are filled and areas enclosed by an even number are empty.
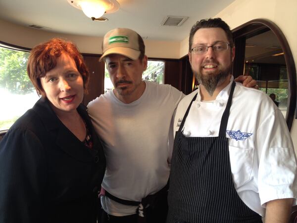
<svg viewBox="0 0 297 223"><path fill-rule="evenodd" d="M0 223L96 223L105 157L81 104L84 60L51 39L32 49L27 72L42 97L0 142Z"/></svg>

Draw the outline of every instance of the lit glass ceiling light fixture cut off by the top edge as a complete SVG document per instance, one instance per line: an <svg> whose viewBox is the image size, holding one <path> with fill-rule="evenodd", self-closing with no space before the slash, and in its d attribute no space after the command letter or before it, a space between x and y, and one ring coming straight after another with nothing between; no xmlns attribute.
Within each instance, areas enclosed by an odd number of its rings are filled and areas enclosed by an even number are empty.
<svg viewBox="0 0 297 223"><path fill-rule="evenodd" d="M119 10L116 0L67 0L69 4L82 10L92 20L98 20L104 13L113 13Z"/></svg>

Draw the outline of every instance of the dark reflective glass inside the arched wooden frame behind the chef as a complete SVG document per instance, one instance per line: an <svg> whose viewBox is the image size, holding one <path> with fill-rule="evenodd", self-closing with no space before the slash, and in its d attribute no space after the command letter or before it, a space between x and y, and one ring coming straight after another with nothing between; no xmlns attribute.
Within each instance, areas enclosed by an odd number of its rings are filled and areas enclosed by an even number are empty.
<svg viewBox="0 0 297 223"><path fill-rule="evenodd" d="M276 96L275 104L286 117L289 95L287 67L280 43L272 31L246 40L245 60L245 75L257 80L261 91Z"/></svg>

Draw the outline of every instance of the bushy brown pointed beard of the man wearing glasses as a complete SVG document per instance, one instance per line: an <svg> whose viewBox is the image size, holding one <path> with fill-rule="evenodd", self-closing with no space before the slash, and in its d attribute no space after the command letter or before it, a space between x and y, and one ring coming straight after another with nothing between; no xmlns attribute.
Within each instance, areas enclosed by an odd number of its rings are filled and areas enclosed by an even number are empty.
<svg viewBox="0 0 297 223"><path fill-rule="evenodd" d="M202 84L208 94L212 96L217 86L220 86L226 80L229 74L231 74L231 71L232 63L225 69L219 70L217 73L208 72L207 75L203 75L200 70L193 70L193 73L195 74L198 83Z"/></svg>

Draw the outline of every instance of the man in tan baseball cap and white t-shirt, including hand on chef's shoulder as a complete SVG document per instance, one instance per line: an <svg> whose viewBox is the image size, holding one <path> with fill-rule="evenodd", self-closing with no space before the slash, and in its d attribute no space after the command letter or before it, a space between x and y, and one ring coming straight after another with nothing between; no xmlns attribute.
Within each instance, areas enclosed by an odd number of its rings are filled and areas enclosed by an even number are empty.
<svg viewBox="0 0 297 223"><path fill-rule="evenodd" d="M127 28L107 32L104 60L114 89L88 105L103 139L102 223L164 223L173 145L172 115L184 94L142 80L148 57L142 37ZM244 85L255 84L250 77Z"/></svg>

